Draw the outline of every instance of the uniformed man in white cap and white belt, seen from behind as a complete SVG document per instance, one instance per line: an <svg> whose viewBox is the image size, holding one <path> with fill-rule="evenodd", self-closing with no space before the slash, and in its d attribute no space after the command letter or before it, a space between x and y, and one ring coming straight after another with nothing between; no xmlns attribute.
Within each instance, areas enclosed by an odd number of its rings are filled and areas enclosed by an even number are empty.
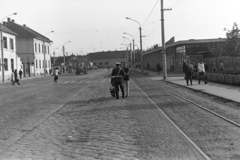
<svg viewBox="0 0 240 160"><path fill-rule="evenodd" d="M116 99L119 99L119 87L122 92L122 98L124 99L124 88L123 88L123 77L125 76L124 71L120 68L120 62L116 62L116 67L113 68L111 76L114 79Z"/></svg>

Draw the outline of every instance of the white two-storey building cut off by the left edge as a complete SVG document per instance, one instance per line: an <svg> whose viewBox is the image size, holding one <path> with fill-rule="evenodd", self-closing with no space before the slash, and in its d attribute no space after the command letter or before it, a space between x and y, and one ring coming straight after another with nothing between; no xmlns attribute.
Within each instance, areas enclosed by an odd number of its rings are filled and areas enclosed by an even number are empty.
<svg viewBox="0 0 240 160"><path fill-rule="evenodd" d="M3 37L4 81L6 81L11 79L12 70L17 69L19 71L21 69L22 62L16 54L17 34L2 24L0 24L0 27ZM2 53L0 54L0 59L2 64ZM0 77L2 80L2 65L0 65Z"/></svg>

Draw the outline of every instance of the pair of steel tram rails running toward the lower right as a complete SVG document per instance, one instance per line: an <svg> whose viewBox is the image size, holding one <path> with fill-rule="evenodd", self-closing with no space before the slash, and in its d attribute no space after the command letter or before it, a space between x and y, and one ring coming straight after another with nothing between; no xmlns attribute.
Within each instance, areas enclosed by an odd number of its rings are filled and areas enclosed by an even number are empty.
<svg viewBox="0 0 240 160"><path fill-rule="evenodd" d="M156 82L156 81L154 82L154 81L152 81L152 80L150 80L150 79L148 79L148 78L143 78L142 75L140 76L140 75L138 75L138 74L134 74L134 77L138 77L139 79L136 81L136 79L133 78L133 81L132 81L132 82L143 92L143 94L144 94L145 96L148 97L148 99L159 109L159 111L160 111L161 113L163 113L163 115L177 128L177 130L179 130L179 132L180 132L180 133L196 148L196 150L198 150L199 153L200 153L205 159L207 159L207 160L210 160L210 159L211 159L211 158L210 158L211 155L206 154L206 153L187 135L187 133L185 133L182 129L180 129L180 127L174 122L174 120L172 120L172 119L167 115L167 113L165 113L165 112L163 111L163 109L161 109L161 106L159 106L158 104L156 104L156 103L154 102L154 100L153 100L147 93L145 93L145 91L144 91L143 89L141 89L141 86L139 87L139 85L137 85L136 83L138 83L138 82L140 82L140 81L142 81L142 82L144 81L144 84L152 85L151 88L155 88L155 89L158 88L159 91L160 91L160 90L164 90L165 92L170 93L170 95L174 95L175 97L178 97L178 98L186 101L187 103L190 103L191 105L193 105L193 106L195 106L195 107L197 107L197 108L200 108L200 109L202 109L203 111L206 111L206 112L214 115L215 117L220 118L221 120L223 120L223 121L225 121L225 122L227 122L227 123L229 123L229 124L237 127L238 130L240 129L240 124L239 124L239 123L237 123L237 122L235 122L235 121L233 121L233 120L225 117L224 115L218 114L218 113L214 112L213 110L210 110L210 109L202 106L201 104L198 104L198 103L196 103L196 102L194 102L194 101L192 101L192 100L190 100L190 99L188 99L188 98L186 98L186 97L184 97L184 96L182 96L182 95L180 95L180 94L172 91L171 89L169 89L169 87L168 87L168 88L167 88L167 87L164 87L163 85L161 85L160 83L158 83L158 82ZM143 86L142 86L142 87L143 87ZM215 159L215 158L213 158L213 159Z"/></svg>

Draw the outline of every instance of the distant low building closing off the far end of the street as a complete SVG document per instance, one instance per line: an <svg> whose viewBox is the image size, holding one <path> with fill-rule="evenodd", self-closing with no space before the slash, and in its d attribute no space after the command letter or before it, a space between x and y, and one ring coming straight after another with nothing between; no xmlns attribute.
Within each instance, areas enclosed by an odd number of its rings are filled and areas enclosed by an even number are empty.
<svg viewBox="0 0 240 160"><path fill-rule="evenodd" d="M95 52L87 55L88 62L92 62L93 66L114 67L115 62L127 62L127 54L129 51L106 51Z"/></svg>

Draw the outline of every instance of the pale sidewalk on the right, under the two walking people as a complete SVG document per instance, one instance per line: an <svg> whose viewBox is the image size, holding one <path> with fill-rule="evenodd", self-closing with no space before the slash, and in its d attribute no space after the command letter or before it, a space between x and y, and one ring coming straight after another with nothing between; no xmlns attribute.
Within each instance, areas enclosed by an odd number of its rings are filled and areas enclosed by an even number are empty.
<svg viewBox="0 0 240 160"><path fill-rule="evenodd" d="M137 69L136 71L141 72L140 69ZM160 75L158 75L157 72L154 71L144 70L144 73L146 72L148 72L147 75L149 75L151 77L150 79L152 80L163 80L162 72L160 73ZM197 80L193 80L192 86L187 86L183 73L168 73L166 81L187 88L191 88L193 90L198 90L208 94L216 95L218 97L229 99L235 102L240 102L240 87L238 86L231 86L214 82L204 84L203 81L201 82L201 84L198 84Z"/></svg>

